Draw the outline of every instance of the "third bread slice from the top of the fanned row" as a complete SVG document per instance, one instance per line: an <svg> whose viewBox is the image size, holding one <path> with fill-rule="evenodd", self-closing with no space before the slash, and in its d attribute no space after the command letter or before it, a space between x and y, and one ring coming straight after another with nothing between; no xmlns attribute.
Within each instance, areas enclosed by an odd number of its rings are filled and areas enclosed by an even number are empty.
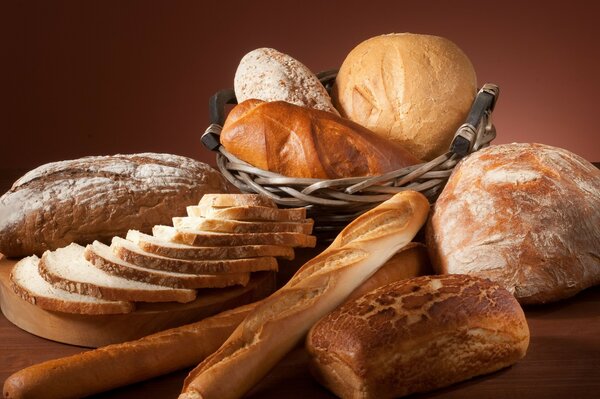
<svg viewBox="0 0 600 399"><path fill-rule="evenodd" d="M313 224L312 219L304 219L302 222L242 222L191 216L173 218L173 225L176 228L237 234L280 232L310 234Z"/></svg>

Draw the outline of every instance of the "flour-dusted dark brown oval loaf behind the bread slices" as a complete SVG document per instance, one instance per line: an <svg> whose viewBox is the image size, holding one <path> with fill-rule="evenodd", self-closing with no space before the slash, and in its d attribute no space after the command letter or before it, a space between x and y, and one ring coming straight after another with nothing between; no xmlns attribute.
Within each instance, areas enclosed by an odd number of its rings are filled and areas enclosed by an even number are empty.
<svg viewBox="0 0 600 399"><path fill-rule="evenodd" d="M208 165L169 154L86 157L36 168L0 197L0 252L41 255L72 242L149 232L204 193L232 190Z"/></svg>

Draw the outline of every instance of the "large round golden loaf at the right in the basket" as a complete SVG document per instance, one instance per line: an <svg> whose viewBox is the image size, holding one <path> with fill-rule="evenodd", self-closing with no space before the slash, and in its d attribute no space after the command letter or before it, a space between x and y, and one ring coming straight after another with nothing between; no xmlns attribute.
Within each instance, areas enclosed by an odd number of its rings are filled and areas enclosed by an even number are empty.
<svg viewBox="0 0 600 399"><path fill-rule="evenodd" d="M428 161L448 151L476 90L473 65L454 43L399 33L356 46L332 97L342 116Z"/></svg>

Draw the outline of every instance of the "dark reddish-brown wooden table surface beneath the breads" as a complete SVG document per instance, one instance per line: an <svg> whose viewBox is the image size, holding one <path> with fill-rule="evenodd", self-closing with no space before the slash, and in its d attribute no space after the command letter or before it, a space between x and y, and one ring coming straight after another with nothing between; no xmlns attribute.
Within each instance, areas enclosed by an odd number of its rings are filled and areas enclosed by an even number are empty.
<svg viewBox="0 0 600 399"><path fill-rule="evenodd" d="M0 170L0 193L25 171ZM599 210L600 211L600 210ZM288 265L294 266L294 265ZM499 372L414 398L600 397L600 286L559 303L525 309L531 343L527 356ZM33 336L0 315L0 381L28 365L85 348ZM251 398L332 398L311 377L302 347L291 352L249 393ZM176 398L189 370L123 387L96 398ZM40 398L43 399L43 398Z"/></svg>

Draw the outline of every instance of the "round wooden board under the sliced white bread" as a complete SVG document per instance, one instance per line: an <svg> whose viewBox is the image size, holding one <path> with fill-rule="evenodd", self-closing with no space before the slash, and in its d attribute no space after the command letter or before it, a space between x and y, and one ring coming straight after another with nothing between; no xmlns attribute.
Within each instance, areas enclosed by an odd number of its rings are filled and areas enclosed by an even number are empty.
<svg viewBox="0 0 600 399"><path fill-rule="evenodd" d="M275 273L253 273L246 287L203 289L190 303L137 303L136 310L117 315L79 315L41 309L16 295L10 271L17 260L0 254L0 308L23 330L66 344L96 348L138 339L168 328L266 297L275 289Z"/></svg>

